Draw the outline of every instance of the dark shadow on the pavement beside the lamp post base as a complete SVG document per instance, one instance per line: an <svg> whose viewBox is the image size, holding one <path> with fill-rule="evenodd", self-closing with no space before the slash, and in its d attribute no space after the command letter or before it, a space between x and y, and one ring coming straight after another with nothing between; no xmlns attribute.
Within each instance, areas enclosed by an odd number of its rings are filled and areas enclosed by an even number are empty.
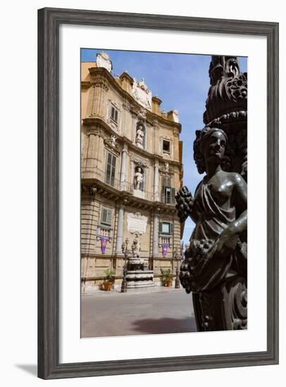
<svg viewBox="0 0 286 387"><path fill-rule="evenodd" d="M142 334L182 334L185 332L197 332L194 317L185 319L139 319L133 322L133 329Z"/></svg>

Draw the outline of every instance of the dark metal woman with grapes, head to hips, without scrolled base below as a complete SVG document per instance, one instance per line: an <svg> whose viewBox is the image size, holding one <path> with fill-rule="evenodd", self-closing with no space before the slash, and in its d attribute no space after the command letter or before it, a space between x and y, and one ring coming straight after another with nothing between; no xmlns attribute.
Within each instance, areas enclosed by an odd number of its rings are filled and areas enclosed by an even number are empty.
<svg viewBox="0 0 286 387"><path fill-rule="evenodd" d="M199 150L206 176L194 197L186 187L176 196L181 222L190 216L196 224L180 273L187 293L210 290L243 266L238 261L243 260L247 229L247 184L238 173L223 170L226 145L222 130L202 132Z"/></svg>

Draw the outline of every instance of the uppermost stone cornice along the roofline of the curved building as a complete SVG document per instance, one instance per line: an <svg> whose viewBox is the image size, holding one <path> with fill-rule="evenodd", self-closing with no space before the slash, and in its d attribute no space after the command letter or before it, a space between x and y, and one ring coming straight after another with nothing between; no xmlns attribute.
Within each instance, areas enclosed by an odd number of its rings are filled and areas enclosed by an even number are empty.
<svg viewBox="0 0 286 387"><path fill-rule="evenodd" d="M113 78L113 76L106 70L106 68L89 68L89 72L91 77L98 76L101 78L105 78L106 81L109 82L109 84L118 91L118 93L123 97L123 99L127 99L128 102L130 103L130 107L135 106L134 110L141 110L142 106L135 101L135 99L128 93L128 91L125 91L120 87L120 84L116 82L116 80ZM82 87L87 88L88 84L91 86L92 85L92 80L90 82L87 81L82 81ZM133 110L133 109L132 109ZM158 122L163 123L164 125L168 125L170 127L173 127L173 129L177 130L180 134L182 130L182 125L180 122L174 122L167 120L166 118L163 118L161 115L158 115L156 113L152 113L151 111L147 110L147 120L149 122L153 122L154 120L158 120Z"/></svg>

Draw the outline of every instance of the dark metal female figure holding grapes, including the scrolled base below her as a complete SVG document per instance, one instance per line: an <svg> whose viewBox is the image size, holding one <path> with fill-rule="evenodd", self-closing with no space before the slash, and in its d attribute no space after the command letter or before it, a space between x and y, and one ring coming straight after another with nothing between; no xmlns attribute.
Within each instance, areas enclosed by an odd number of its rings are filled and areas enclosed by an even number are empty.
<svg viewBox="0 0 286 387"><path fill-rule="evenodd" d="M180 222L196 224L185 250L180 281L192 291L199 331L247 328L247 183L231 170L228 137L222 129L197 131L194 159L206 176L194 196L176 195Z"/></svg>

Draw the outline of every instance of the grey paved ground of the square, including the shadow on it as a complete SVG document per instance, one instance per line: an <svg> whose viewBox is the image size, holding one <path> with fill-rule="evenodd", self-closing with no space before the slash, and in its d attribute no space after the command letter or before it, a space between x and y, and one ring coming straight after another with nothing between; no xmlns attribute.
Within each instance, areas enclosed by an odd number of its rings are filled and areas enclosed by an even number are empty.
<svg viewBox="0 0 286 387"><path fill-rule="evenodd" d="M175 288L83 295L81 322L82 337L197 331L192 296Z"/></svg>

